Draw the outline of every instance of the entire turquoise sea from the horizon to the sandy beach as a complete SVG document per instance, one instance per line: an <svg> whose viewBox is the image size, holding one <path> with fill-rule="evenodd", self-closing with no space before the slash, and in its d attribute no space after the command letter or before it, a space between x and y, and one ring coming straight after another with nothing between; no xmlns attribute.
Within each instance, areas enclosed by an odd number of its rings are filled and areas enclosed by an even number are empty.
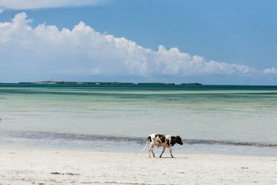
<svg viewBox="0 0 277 185"><path fill-rule="evenodd" d="M0 118L3 147L134 151L160 133L179 152L277 155L277 86L2 83Z"/></svg>

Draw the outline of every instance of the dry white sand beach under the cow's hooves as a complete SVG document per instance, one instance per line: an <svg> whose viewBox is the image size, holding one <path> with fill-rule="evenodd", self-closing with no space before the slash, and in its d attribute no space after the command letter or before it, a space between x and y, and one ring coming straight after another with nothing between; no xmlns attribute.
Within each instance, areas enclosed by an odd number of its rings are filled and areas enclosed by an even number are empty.
<svg viewBox="0 0 277 185"><path fill-rule="evenodd" d="M175 157L2 149L0 184L277 184L275 157Z"/></svg>

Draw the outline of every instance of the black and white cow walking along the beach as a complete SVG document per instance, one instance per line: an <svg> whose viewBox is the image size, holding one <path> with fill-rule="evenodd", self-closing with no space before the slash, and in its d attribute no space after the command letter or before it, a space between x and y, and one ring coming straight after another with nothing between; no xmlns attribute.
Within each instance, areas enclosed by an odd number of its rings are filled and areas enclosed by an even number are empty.
<svg viewBox="0 0 277 185"><path fill-rule="evenodd" d="M183 145L183 142L181 141L181 137L180 136L170 136L170 135L163 135L163 134L150 134L148 136L148 141L149 143L149 147L148 147L148 153L149 153L149 157L150 156L150 152L152 152L153 157L155 157L155 154L153 152L153 148L154 146L157 146L158 148L160 146L163 146L163 152L166 150L166 148L169 149L170 151L170 155L172 158L172 146L174 146L176 143ZM148 141L146 142L146 146L145 148L148 146ZM143 148L143 150L145 149ZM163 155L163 152L161 152L161 155ZM161 155L159 156L161 158Z"/></svg>

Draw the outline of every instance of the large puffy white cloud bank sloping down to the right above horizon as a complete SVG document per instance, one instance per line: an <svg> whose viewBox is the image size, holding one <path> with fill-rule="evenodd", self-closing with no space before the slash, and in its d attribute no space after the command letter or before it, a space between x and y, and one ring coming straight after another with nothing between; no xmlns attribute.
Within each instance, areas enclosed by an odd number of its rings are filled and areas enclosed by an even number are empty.
<svg viewBox="0 0 277 185"><path fill-rule="evenodd" d="M72 30L40 24L21 12L0 23L0 80L161 80L197 76L253 76L242 64L206 60L159 46L145 49L124 37L98 33L80 22Z"/></svg>

